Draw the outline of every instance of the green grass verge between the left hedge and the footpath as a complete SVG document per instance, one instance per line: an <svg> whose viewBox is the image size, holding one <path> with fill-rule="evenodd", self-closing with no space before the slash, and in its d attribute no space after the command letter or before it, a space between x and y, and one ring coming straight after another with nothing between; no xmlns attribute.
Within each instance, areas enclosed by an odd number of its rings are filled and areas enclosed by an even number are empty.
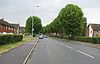
<svg viewBox="0 0 100 64"><path fill-rule="evenodd" d="M29 41L33 40L32 37L29 37L29 36L24 36L23 37L23 40L21 42L16 42L16 43L11 43L11 44L5 44L5 45L0 45L0 53L3 53L3 52L7 52L8 50L12 49L12 48L15 48L19 45L22 45L22 44L25 44L25 43L28 43Z"/></svg>

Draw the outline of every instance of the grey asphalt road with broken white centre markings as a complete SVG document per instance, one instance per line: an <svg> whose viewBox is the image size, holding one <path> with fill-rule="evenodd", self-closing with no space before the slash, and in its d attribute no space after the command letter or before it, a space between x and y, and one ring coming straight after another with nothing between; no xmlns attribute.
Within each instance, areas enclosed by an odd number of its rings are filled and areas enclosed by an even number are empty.
<svg viewBox="0 0 100 64"><path fill-rule="evenodd" d="M100 64L100 49L74 41L40 39L27 64Z"/></svg>

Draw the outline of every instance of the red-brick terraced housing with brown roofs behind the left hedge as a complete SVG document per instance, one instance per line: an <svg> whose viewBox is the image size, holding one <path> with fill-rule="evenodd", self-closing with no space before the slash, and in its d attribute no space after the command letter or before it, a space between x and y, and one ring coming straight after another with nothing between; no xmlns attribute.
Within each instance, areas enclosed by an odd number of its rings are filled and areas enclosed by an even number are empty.
<svg viewBox="0 0 100 64"><path fill-rule="evenodd" d="M19 24L10 24L4 19L0 19L0 34L18 34Z"/></svg>

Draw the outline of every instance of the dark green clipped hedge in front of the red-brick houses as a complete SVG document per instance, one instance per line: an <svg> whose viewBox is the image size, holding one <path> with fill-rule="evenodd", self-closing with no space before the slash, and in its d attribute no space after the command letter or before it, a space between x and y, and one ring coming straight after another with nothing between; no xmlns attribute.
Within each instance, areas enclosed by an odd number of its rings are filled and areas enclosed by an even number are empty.
<svg viewBox="0 0 100 64"><path fill-rule="evenodd" d="M0 45L19 42L22 39L22 35L0 35Z"/></svg>

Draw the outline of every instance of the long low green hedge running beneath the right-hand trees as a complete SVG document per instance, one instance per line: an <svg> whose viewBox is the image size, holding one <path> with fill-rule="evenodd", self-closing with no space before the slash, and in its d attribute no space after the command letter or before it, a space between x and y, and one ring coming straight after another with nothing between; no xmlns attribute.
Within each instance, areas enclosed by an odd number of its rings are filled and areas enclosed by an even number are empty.
<svg viewBox="0 0 100 64"><path fill-rule="evenodd" d="M75 36L75 37L68 37L68 36L52 36L52 37L58 37L68 40L76 40L81 42L89 42L94 44L100 44L100 37L85 37L85 36Z"/></svg>

